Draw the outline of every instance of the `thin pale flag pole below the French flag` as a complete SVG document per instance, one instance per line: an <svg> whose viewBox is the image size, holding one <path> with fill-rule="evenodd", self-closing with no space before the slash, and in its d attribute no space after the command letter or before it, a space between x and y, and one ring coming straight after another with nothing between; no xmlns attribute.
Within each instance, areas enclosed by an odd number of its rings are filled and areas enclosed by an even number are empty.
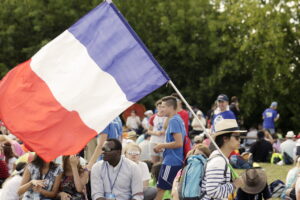
<svg viewBox="0 0 300 200"><path fill-rule="evenodd" d="M205 126L203 125L203 123L200 121L200 119L198 118L198 116L196 115L196 113L193 111L193 109L191 108L191 106L189 105L189 103L186 101L186 99L183 97L183 95L181 94L181 92L177 89L177 87L175 86L175 84L173 83L172 80L169 80L168 82L173 89L175 90L175 92L179 95L180 99L183 101L183 103L186 105L186 107L188 108L188 110L192 113L192 115L194 116L194 118L196 118L196 120L198 121L198 123L200 124L201 128L204 130L204 134L206 135L206 137L208 137L210 139L210 141L212 142L212 144L215 146L215 148L219 151L219 153L225 158L225 161L227 162L231 172L232 172L232 176L233 178L238 178L239 175L233 170L233 167L230 165L230 163L227 161L226 156L223 154L223 152L221 151L221 149L218 147L218 145L216 144L215 140L212 138L212 136L207 132ZM188 133L186 133L188 134Z"/></svg>

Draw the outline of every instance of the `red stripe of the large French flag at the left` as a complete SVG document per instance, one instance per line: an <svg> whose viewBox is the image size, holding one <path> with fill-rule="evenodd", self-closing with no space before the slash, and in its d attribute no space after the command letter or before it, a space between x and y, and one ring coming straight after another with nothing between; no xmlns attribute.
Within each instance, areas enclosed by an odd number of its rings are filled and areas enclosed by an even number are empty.
<svg viewBox="0 0 300 200"><path fill-rule="evenodd" d="M97 135L76 111L62 107L46 83L32 71L30 60L2 79L0 94L0 119L46 161L78 153Z"/></svg>

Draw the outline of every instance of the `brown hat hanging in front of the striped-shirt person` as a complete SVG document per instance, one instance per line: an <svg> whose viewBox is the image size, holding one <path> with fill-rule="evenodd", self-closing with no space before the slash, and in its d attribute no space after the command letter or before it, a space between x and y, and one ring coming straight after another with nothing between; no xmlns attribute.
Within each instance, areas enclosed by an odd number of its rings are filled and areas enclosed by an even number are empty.
<svg viewBox="0 0 300 200"><path fill-rule="evenodd" d="M247 169L242 174L244 186L241 189L248 194L258 194L267 185L267 175L261 168Z"/></svg>

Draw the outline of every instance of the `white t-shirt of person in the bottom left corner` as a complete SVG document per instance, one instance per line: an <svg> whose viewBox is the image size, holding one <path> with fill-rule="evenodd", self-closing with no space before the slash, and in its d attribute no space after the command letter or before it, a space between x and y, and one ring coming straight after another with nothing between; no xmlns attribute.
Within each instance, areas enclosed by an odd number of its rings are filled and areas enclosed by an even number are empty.
<svg viewBox="0 0 300 200"><path fill-rule="evenodd" d="M19 199L18 189L21 185L22 176L15 175L5 182L0 193L0 199L17 200Z"/></svg>

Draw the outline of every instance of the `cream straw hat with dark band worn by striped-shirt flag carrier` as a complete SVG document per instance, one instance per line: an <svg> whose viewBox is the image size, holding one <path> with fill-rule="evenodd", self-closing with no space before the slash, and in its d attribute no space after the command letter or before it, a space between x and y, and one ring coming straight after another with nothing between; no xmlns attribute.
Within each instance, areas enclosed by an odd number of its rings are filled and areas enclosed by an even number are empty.
<svg viewBox="0 0 300 200"><path fill-rule="evenodd" d="M235 119L221 119L215 123L214 137L225 133L245 133L246 130L240 130Z"/></svg>

